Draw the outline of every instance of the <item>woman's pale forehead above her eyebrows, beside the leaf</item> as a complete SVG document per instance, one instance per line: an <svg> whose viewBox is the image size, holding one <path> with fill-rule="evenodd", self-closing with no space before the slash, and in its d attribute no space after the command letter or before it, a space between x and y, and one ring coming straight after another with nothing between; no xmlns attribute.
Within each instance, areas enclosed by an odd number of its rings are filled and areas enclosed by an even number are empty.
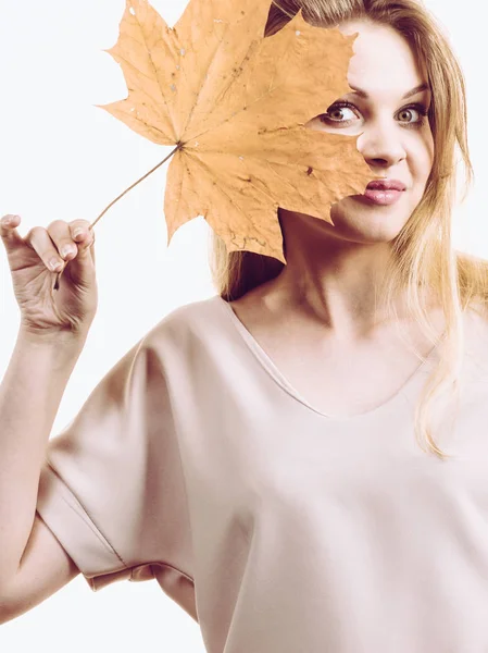
<svg viewBox="0 0 488 653"><path fill-rule="evenodd" d="M402 96L427 82L425 66L417 61L406 39L389 25L350 21L338 26L345 35L358 34L348 83L366 90L372 97Z"/></svg>

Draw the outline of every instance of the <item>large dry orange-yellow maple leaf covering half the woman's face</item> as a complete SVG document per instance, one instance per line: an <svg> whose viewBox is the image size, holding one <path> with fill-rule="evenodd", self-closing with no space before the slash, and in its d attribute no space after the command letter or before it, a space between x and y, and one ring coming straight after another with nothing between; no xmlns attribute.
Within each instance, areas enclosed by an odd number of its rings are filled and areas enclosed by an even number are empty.
<svg viewBox="0 0 488 653"><path fill-rule="evenodd" d="M286 263L278 206L330 224L330 206L375 177L356 137L305 127L339 96L352 44L301 12L263 38L268 0L190 0L170 28L126 0L118 40L125 100L99 106L159 145L176 145L164 202L167 244L203 215L227 250Z"/></svg>

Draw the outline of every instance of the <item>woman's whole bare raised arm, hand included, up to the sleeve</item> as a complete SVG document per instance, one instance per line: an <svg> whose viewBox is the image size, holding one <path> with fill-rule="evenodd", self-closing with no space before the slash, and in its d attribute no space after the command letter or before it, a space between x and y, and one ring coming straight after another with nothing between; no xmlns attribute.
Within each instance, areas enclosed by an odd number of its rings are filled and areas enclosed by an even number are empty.
<svg viewBox="0 0 488 653"><path fill-rule="evenodd" d="M22 236L0 220L21 330L0 384L0 624L78 572L36 514L40 470L61 398L98 306L95 236L87 220L54 220ZM57 278L53 291L53 272Z"/></svg>

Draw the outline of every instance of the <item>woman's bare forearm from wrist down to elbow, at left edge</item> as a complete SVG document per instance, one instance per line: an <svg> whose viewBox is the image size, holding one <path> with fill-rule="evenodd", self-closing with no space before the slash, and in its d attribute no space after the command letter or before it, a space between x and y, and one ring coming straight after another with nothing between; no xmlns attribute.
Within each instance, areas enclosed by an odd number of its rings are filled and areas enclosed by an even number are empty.
<svg viewBox="0 0 488 653"><path fill-rule="evenodd" d="M84 342L21 331L0 384L0 584L29 539L49 435Z"/></svg>

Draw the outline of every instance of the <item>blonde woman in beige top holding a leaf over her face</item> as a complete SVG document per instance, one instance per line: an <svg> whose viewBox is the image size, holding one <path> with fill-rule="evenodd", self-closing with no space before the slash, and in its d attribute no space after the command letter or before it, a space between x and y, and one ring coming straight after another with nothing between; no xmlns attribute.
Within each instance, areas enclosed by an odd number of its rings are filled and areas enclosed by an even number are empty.
<svg viewBox="0 0 488 653"><path fill-rule="evenodd" d="M359 33L355 90L310 127L361 134L404 189L343 199L335 226L281 211L284 269L216 242L220 294L162 320L48 446L96 312L91 235L2 225L23 315L0 394L3 621L82 572L155 578L212 653L488 649L486 263L450 249L462 73L412 0L300 5ZM267 34L300 5L275 4ZM415 442L415 406L433 370L449 390L464 333L450 459Z"/></svg>

